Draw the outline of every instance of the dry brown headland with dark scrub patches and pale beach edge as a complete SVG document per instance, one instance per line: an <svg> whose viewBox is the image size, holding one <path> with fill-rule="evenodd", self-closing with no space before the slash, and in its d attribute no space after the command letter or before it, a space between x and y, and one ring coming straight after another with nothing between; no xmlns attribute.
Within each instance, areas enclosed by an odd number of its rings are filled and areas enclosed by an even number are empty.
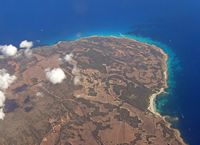
<svg viewBox="0 0 200 145"><path fill-rule="evenodd" d="M167 88L167 54L129 38L92 36L4 58L0 145L183 145L154 111ZM54 71L50 71L50 70ZM56 70L60 81L48 78ZM53 81L52 81L53 80Z"/></svg>

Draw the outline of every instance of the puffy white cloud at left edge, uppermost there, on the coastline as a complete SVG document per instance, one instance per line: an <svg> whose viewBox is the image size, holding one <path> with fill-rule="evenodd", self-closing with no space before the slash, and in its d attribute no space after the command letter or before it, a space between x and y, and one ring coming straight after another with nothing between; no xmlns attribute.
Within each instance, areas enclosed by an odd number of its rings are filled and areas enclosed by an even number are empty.
<svg viewBox="0 0 200 145"><path fill-rule="evenodd" d="M4 56L14 56L17 53L17 48L13 45L1 45L0 51Z"/></svg>

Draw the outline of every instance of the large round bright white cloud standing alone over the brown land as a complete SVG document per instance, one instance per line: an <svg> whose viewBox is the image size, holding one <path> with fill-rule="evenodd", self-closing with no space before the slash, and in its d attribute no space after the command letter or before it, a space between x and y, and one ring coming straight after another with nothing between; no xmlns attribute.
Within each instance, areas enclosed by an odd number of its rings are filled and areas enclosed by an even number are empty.
<svg viewBox="0 0 200 145"><path fill-rule="evenodd" d="M65 73L61 68L54 68L52 70L46 69L45 71L47 79L53 84L62 83L66 78Z"/></svg>

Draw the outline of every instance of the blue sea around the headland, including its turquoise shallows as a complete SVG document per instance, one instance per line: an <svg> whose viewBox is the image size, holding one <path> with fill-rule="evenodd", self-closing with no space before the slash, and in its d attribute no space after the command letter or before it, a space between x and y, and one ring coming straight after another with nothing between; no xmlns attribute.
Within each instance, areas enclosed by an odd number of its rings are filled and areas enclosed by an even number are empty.
<svg viewBox="0 0 200 145"><path fill-rule="evenodd" d="M171 58L169 94L157 110L178 117L184 140L200 145L199 0L0 0L0 44L35 45L92 34L156 41Z"/></svg>

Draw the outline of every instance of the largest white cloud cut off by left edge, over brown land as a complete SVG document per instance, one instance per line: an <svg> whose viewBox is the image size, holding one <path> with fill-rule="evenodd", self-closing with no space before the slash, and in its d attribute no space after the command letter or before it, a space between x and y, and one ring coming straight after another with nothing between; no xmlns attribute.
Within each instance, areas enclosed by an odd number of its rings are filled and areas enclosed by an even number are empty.
<svg viewBox="0 0 200 145"><path fill-rule="evenodd" d="M7 89L10 84L14 82L16 77L13 75L11 76L5 69L0 70L0 89L5 90Z"/></svg>

